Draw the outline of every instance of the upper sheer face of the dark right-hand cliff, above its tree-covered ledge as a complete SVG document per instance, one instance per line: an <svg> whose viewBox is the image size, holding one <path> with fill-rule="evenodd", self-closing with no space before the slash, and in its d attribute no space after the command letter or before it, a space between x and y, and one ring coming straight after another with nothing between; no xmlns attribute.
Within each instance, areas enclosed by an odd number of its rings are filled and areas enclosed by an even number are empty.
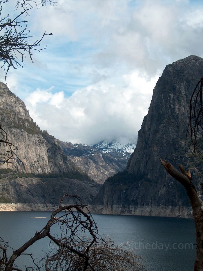
<svg viewBox="0 0 203 271"><path fill-rule="evenodd" d="M189 102L197 81L203 74L203 59L190 56L166 66L153 92L148 114L138 132L137 148L128 161L129 173L160 176L160 155L171 162L187 163L185 145L189 123ZM177 161L178 162L178 161Z"/></svg>

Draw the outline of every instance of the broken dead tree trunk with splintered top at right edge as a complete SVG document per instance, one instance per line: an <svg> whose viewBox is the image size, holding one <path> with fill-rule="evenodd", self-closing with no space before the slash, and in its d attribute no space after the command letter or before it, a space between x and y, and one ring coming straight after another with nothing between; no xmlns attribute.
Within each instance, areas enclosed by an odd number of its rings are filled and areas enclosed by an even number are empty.
<svg viewBox="0 0 203 271"><path fill-rule="evenodd" d="M192 183L190 169L187 173L183 166L179 164L179 168L181 172L174 168L174 166L167 162L160 161L166 171L177 181L179 181L184 188L186 189L187 195L190 198L190 202L193 209L193 217L195 221L195 228L196 228L196 241L197 241L197 248L196 248L196 259L195 259L195 266L194 271L203 271L203 211L202 211L202 200L197 195L197 190Z"/></svg>

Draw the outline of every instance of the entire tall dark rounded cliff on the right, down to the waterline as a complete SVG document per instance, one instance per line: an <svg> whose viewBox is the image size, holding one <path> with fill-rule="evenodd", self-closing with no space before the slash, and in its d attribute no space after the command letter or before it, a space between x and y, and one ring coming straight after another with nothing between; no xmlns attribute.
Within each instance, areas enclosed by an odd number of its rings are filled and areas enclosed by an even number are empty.
<svg viewBox="0 0 203 271"><path fill-rule="evenodd" d="M191 217L184 188L164 170L159 157L176 167L178 163L187 169L193 165L185 141L189 101L202 74L203 59L197 56L166 66L126 171L104 183L93 202L94 212Z"/></svg>

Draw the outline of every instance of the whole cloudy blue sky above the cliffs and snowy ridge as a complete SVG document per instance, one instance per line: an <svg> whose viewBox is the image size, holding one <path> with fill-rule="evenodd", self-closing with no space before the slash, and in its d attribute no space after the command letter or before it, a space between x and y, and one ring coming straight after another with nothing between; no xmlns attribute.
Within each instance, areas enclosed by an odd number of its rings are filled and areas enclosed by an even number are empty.
<svg viewBox="0 0 203 271"><path fill-rule="evenodd" d="M3 12L14 14L15 0ZM72 143L137 141L166 65L203 57L203 1L58 0L29 12L41 42L24 68L7 76L42 130ZM5 82L3 68L0 80Z"/></svg>

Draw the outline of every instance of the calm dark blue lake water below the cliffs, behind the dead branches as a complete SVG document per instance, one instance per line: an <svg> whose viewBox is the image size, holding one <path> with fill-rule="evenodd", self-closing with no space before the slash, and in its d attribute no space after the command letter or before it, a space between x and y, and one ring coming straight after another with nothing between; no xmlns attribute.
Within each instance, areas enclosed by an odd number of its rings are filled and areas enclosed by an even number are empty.
<svg viewBox="0 0 203 271"><path fill-rule="evenodd" d="M44 227L50 215L51 212L0 212L0 237L17 249ZM128 248L142 256L148 271L193 271L196 242L192 219L100 214L93 218L100 235L108 234L115 244L128 242ZM44 239L26 252L39 258L42 251L48 250L49 241ZM18 261L19 267L24 261L27 260Z"/></svg>

